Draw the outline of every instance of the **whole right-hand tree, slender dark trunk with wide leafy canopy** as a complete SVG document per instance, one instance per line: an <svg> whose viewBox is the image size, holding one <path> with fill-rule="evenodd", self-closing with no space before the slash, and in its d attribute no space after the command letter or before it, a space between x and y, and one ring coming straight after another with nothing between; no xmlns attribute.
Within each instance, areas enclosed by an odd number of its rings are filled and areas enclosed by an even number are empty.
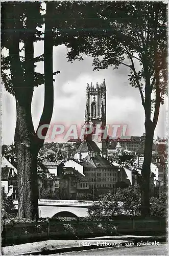
<svg viewBox="0 0 169 256"><path fill-rule="evenodd" d="M63 42L68 60L93 57L93 70L124 65L129 83L138 88L145 114L142 165L142 214L150 214L150 164L160 105L167 94L167 17L163 2L90 2L72 4L75 32ZM80 7L79 7L80 8ZM88 13L84 9L88 10ZM77 13L80 14L80 22ZM84 16L83 16L84 15ZM57 31L59 33L59 30ZM113 82L113 81L112 81Z"/></svg>

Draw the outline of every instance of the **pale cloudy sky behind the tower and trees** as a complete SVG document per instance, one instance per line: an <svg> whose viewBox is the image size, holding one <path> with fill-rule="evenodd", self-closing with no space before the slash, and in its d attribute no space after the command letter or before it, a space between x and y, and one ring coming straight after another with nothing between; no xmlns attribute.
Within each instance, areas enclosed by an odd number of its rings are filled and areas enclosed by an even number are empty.
<svg viewBox="0 0 169 256"><path fill-rule="evenodd" d="M35 56L43 53L43 43L34 44ZM83 124L86 107L86 84L101 84L105 78L107 88L107 124L127 124L129 136L141 136L144 133L144 111L138 89L130 86L129 69L122 65L118 70L109 67L106 70L92 71L92 58L84 56L82 61L68 62L65 46L54 47L53 72L59 70L54 82L54 110L51 123ZM38 63L36 71L43 72L43 62ZM34 89L32 117L35 129L42 114L44 86ZM166 104L160 108L155 136L166 136ZM16 125L15 98L2 87L2 143L14 141ZM56 140L55 140L56 141Z"/></svg>

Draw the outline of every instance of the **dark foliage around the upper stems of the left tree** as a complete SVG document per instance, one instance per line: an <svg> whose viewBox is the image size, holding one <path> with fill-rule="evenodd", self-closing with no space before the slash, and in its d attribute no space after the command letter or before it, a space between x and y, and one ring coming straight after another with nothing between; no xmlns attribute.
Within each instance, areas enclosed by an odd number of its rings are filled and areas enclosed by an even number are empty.
<svg viewBox="0 0 169 256"><path fill-rule="evenodd" d="M32 8L33 7L33 8ZM2 50L8 50L11 48L11 44L15 41L22 43L23 47L20 49L21 54L25 51L24 42L32 37L33 41L42 40L43 33L39 30L43 24L43 16L41 15L40 3L15 3L2 5ZM5 89L15 95L15 86L11 77L11 58L10 54L2 56L2 82ZM36 63L44 59L43 55L34 58L34 67ZM22 87L27 87L27 61L24 56L20 56L20 62L22 67L23 83ZM34 71L34 84L30 86L38 86L44 83L44 74L40 74Z"/></svg>

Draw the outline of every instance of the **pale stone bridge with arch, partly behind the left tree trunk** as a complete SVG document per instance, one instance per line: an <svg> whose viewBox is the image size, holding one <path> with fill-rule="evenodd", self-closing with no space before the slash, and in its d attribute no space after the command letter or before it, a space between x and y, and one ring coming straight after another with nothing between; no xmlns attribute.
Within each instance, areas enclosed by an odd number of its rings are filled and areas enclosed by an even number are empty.
<svg viewBox="0 0 169 256"><path fill-rule="evenodd" d="M18 201L12 201L17 209ZM39 217L86 217L87 209L92 203L93 201L39 199Z"/></svg>

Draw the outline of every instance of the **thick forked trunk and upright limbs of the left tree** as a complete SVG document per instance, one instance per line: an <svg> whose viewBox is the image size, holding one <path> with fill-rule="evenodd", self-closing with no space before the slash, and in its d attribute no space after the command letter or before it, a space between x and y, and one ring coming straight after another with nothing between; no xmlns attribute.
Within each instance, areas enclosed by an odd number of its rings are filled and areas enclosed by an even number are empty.
<svg viewBox="0 0 169 256"><path fill-rule="evenodd" d="M39 126L50 124L53 104L53 33L51 25L51 11L53 5L47 3L44 35L44 106ZM15 24L14 24L15 25ZM32 27L33 26L33 27ZM14 26L15 27L15 26ZM16 99L16 129L15 146L18 170L18 217L38 218L38 185L37 185L37 155L44 139L37 137L31 115L31 102L34 88L34 33L35 28L32 20L27 18L28 31L24 38L25 42L25 75L19 57L19 33L17 30L11 37L9 47L10 71L13 83L13 91ZM43 130L45 137L47 129Z"/></svg>

